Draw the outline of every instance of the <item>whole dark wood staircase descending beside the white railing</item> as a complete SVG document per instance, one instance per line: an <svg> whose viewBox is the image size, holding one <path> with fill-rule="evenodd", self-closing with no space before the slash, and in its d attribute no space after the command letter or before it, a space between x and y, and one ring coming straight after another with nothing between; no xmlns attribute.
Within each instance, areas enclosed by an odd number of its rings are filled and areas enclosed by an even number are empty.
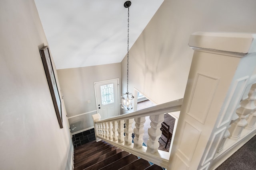
<svg viewBox="0 0 256 170"><path fill-rule="evenodd" d="M92 141L74 149L74 170L163 170L104 141Z"/></svg>

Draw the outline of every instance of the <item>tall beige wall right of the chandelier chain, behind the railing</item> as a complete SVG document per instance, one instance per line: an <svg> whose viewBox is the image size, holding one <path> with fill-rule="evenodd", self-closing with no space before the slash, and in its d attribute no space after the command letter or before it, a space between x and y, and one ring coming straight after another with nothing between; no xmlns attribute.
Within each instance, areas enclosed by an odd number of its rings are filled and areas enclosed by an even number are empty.
<svg viewBox="0 0 256 170"><path fill-rule="evenodd" d="M256 32L255 6L255 0L165 0L129 51L129 92L136 88L157 104L183 98L193 55L190 35ZM122 77L126 62L125 57Z"/></svg>

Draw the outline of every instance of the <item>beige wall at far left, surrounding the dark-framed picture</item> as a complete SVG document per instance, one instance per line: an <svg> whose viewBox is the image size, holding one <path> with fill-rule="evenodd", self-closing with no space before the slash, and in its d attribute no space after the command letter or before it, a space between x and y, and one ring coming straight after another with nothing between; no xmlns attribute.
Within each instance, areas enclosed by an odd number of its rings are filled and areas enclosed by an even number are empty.
<svg viewBox="0 0 256 170"><path fill-rule="evenodd" d="M54 110L39 53L47 40L34 0L0 1L0 40L1 169L67 170L72 140L65 107L63 129Z"/></svg>

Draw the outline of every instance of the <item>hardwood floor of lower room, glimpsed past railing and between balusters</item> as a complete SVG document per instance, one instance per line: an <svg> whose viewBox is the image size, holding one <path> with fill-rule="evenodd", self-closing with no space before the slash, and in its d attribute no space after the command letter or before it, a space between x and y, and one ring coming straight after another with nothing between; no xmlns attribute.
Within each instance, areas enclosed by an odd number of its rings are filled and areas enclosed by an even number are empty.
<svg viewBox="0 0 256 170"><path fill-rule="evenodd" d="M139 102L137 104L137 110L140 110L140 109L144 109L144 108L148 108L148 107L151 107L151 106L155 106L155 104L153 102L151 102L150 100L146 100L146 101L143 101L143 102ZM148 141L148 129L150 128L150 119L149 119L149 116L146 116L146 121L144 123L144 136L143 136L143 141L144 141L144 144L147 145L147 141ZM169 115L168 113L166 113L164 115L164 122L166 122L168 125L170 125L170 132L173 133L173 129L174 129L174 123L175 123L175 119L174 117L172 117L171 115ZM161 136L162 139L166 139L163 135ZM165 143L164 141L162 141L161 139L159 140L159 150L164 150L166 152L169 152L169 149L170 149L170 142L168 143L167 147L165 147Z"/></svg>

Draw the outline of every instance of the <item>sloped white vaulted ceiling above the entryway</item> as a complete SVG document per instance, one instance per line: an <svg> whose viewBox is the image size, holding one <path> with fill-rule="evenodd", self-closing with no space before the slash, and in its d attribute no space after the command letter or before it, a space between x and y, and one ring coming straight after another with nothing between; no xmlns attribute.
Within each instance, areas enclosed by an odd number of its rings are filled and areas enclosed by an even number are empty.
<svg viewBox="0 0 256 170"><path fill-rule="evenodd" d="M35 0L57 69L120 63L127 53L126 0ZM134 0L129 47L164 0Z"/></svg>

